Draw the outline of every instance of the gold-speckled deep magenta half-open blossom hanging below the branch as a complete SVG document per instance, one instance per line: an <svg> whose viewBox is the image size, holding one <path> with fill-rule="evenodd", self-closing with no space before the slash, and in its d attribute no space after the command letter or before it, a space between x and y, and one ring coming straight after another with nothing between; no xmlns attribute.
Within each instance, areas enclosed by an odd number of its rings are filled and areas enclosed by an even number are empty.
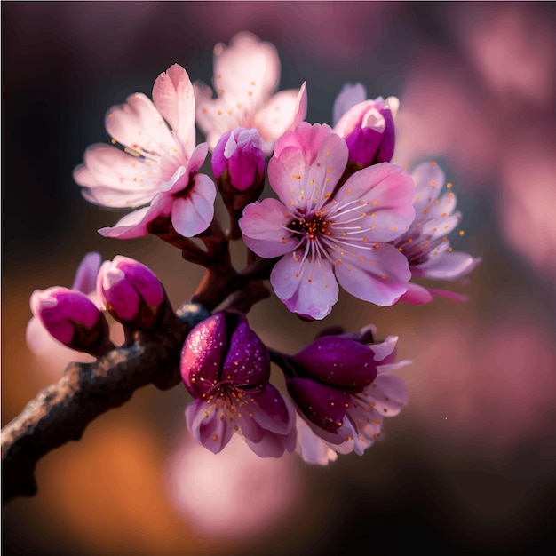
<svg viewBox="0 0 556 556"><path fill-rule="evenodd" d="M187 427L211 452L224 449L234 433L260 457L295 449L295 411L269 384L269 354L242 314L214 314L189 333L181 376L195 398Z"/></svg>

